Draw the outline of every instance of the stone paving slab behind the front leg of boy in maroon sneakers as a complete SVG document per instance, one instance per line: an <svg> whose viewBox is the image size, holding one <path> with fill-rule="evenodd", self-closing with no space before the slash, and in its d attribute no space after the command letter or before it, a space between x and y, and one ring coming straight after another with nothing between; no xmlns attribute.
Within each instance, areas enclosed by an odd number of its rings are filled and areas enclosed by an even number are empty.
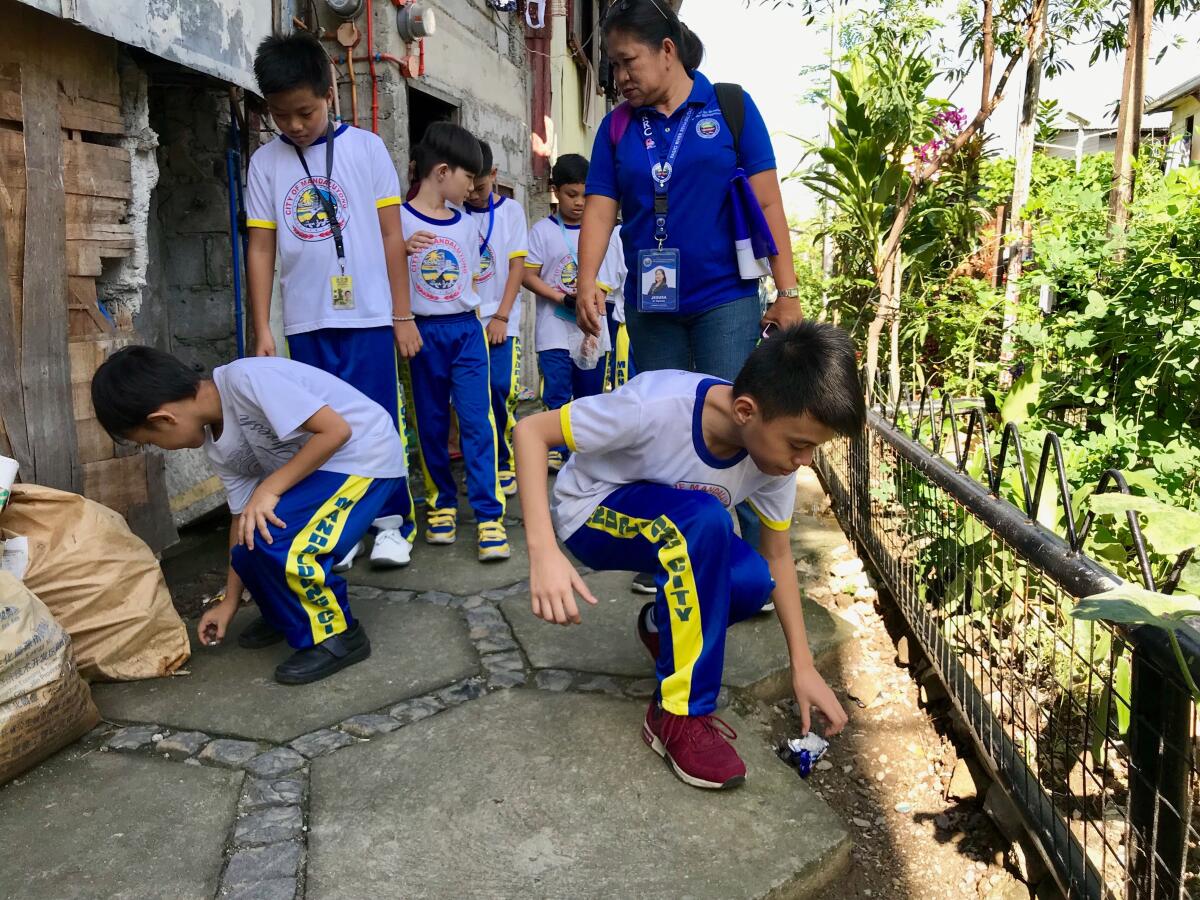
<svg viewBox="0 0 1200 900"><path fill-rule="evenodd" d="M630 592L631 578L629 572L584 576L600 602L596 606L583 604L580 610L582 625L563 628L534 618L528 593L503 600L500 608L534 668L569 668L629 678L652 676L654 665L635 632L637 611L649 598ZM811 601L804 604L804 624L818 662L852 631ZM763 700L788 696L787 644L774 613L756 616L730 629L725 642L725 684Z"/></svg>

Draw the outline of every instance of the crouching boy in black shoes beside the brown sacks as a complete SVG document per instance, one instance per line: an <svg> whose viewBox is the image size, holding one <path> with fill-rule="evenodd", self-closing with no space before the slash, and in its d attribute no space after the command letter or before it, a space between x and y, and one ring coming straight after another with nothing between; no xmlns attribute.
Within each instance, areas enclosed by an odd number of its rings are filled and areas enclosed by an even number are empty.
<svg viewBox="0 0 1200 900"><path fill-rule="evenodd" d="M113 438L203 446L224 485L229 574L224 598L200 618L202 643L221 642L245 586L263 617L238 643L287 640L295 650L276 667L277 682L307 684L371 655L332 564L406 490L400 434L383 407L289 359L241 359L204 379L152 347L109 356L91 397Z"/></svg>

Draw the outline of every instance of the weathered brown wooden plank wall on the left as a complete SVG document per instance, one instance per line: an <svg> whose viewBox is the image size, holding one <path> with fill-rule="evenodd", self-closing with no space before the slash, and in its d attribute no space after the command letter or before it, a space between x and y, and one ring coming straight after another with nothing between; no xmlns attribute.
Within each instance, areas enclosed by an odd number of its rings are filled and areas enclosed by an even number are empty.
<svg viewBox="0 0 1200 900"><path fill-rule="evenodd" d="M0 382L7 390L19 373L23 389L0 400L0 452L22 462L23 480L82 491L161 550L176 539L161 462L114 445L90 395L104 358L137 343L132 325L114 326L97 302L104 260L128 256L137 240L127 222L130 154L119 145L118 46L12 0L0 0L0 12L17 32L6 42L16 53L0 65L0 277L7 286L0 289L7 319L0 322ZM23 30L30 40L19 40ZM49 46L53 55L36 53ZM53 160L53 169L38 160Z"/></svg>

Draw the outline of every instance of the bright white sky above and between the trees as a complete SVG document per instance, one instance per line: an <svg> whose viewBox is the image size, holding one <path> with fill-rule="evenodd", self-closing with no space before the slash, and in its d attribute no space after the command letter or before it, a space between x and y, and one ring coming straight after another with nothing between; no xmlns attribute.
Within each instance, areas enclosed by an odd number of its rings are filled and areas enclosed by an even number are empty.
<svg viewBox="0 0 1200 900"><path fill-rule="evenodd" d="M856 4L865 7L865 2ZM805 146L800 139L820 139L824 130L821 108L802 102L809 89L802 68L828 56L828 32L820 23L804 24L798 8L774 0L760 5L751 0L684 0L680 18L704 42L702 71L714 82L736 82L754 97L772 131L780 174L802 164ZM1178 35L1186 41L1181 49L1171 48L1162 62L1153 62L1158 52ZM947 32L948 43L958 47L956 28ZM1056 98L1062 112L1074 112L1096 124L1105 121L1105 108L1121 94L1122 58L1100 60L1088 67L1091 47L1073 47L1066 54L1074 65L1052 80L1043 80L1042 96ZM1156 31L1151 47L1151 67L1146 86L1151 97L1165 94L1175 85L1200 74L1200 17ZM1000 66L997 65L997 70ZM992 114L988 131L996 136L992 146L1000 152L1012 152L1016 118L1024 82L1024 64L1009 82L1004 102ZM947 91L948 86L943 86ZM973 114L979 104L978 76L954 95ZM944 96L944 94L943 94ZM972 106L973 104L973 106ZM1170 116L1154 116L1150 124L1166 124ZM816 200L797 180L784 181L784 202L797 216L812 215Z"/></svg>

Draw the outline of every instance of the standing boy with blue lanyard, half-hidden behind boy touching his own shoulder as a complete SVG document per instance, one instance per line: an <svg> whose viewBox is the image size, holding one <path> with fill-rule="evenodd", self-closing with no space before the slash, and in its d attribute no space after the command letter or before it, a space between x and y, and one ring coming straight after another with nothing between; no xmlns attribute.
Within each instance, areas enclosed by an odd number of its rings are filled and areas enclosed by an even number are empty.
<svg viewBox="0 0 1200 900"><path fill-rule="evenodd" d="M475 292L480 298L479 317L484 320L491 356L500 490L514 494L517 476L512 462L512 428L517 424L521 390L521 280L529 256L529 227L521 205L493 191L492 148L480 140L479 149L484 156L484 174L475 179L475 187L467 198L467 211L479 226Z"/></svg>

